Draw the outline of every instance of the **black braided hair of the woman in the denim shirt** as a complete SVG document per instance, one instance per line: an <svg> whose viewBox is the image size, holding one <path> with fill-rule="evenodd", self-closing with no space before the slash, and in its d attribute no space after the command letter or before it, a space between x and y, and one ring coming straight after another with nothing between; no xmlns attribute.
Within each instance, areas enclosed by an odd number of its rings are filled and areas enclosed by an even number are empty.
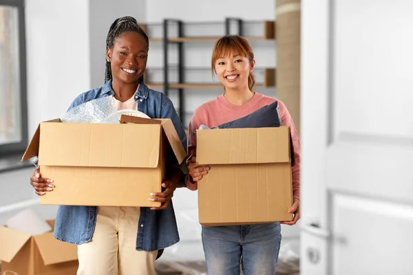
<svg viewBox="0 0 413 275"><path fill-rule="evenodd" d="M138 21L134 17L120 17L110 25L109 32L107 33L106 39L106 50L112 49L114 46L115 40L123 34L124 32L137 32L140 34L143 39L145 39L148 48L149 48L149 39L147 34L142 28L138 25ZM112 79L112 69L110 68L110 62L106 60L106 69L105 69L105 83ZM143 82L143 75L138 79L138 83Z"/></svg>

